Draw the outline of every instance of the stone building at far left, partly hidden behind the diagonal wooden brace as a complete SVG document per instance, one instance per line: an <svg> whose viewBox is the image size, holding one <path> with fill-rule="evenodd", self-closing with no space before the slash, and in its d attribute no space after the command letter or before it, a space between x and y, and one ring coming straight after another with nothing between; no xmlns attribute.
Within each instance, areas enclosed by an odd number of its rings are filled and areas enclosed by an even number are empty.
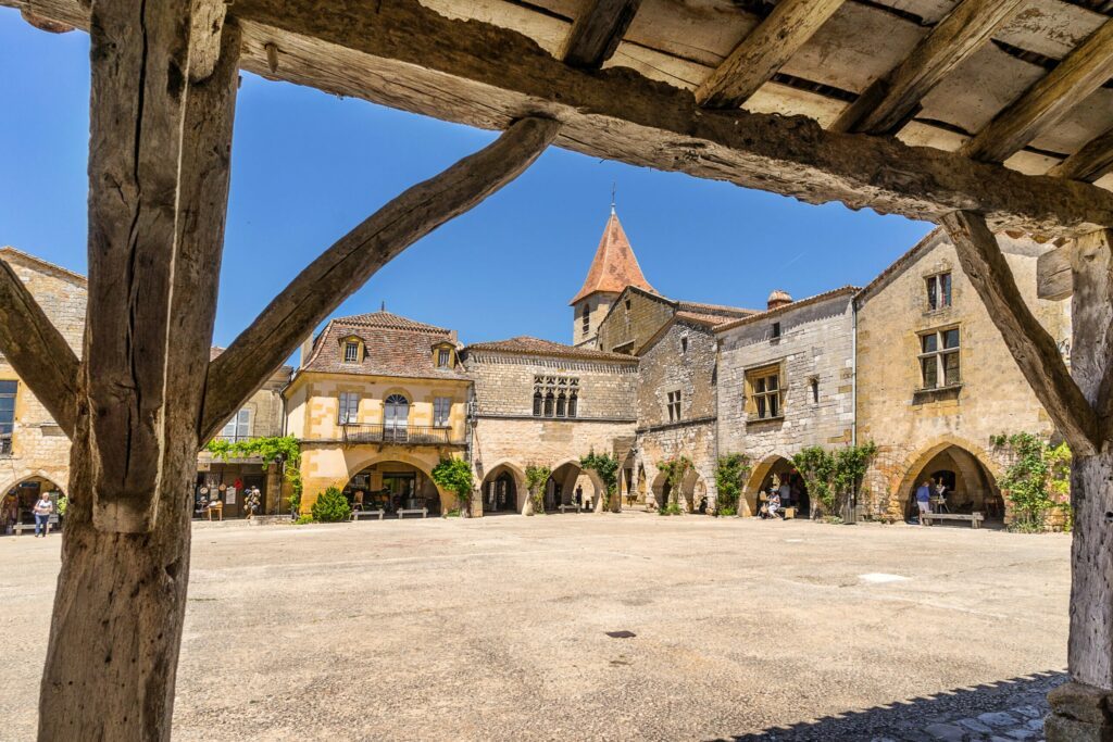
<svg viewBox="0 0 1113 742"><path fill-rule="evenodd" d="M13 247L0 248L0 259L80 356L88 293L85 276ZM0 356L0 533L14 522L33 522L31 507L41 493L53 493L57 498L66 492L69 451L69 438Z"/></svg>

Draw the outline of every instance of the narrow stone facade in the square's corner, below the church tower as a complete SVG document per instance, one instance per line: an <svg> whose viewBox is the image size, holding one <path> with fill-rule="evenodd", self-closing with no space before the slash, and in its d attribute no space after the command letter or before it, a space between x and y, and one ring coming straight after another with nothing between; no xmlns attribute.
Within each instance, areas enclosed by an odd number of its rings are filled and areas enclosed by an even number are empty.
<svg viewBox="0 0 1113 742"><path fill-rule="evenodd" d="M686 512L715 509L715 324L678 314L640 354L637 454L627 479L648 507L671 502ZM660 464L680 456L692 466L672 487Z"/></svg>

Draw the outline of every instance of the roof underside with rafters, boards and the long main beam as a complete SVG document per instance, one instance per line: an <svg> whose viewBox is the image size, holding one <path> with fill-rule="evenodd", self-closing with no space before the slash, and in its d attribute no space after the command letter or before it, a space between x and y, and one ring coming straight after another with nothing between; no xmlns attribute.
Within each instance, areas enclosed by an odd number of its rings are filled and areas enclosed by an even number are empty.
<svg viewBox="0 0 1113 742"><path fill-rule="evenodd" d="M89 24L80 0L0 4ZM549 116L559 147L808 202L1077 235L1113 224L1109 4L237 0L228 13L242 67L268 78L487 129Z"/></svg>

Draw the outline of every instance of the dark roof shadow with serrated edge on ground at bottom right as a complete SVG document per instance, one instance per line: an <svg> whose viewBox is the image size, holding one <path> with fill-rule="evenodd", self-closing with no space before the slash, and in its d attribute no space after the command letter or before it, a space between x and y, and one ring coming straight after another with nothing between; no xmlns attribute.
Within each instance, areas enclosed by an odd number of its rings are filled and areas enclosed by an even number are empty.
<svg viewBox="0 0 1113 742"><path fill-rule="evenodd" d="M1001 680L971 687L942 691L935 695L898 701L888 705L874 706L865 711L848 711L835 716L824 716L798 724L772 726L757 734L741 734L731 738L735 742L757 740L915 740L938 739L987 739L959 720L977 720L982 714L1009 713L1017 720L1016 728L1023 728L1033 718L1047 713L1047 693L1066 682L1064 672L1046 671L1022 677ZM1020 710L1024 710L1025 713ZM1038 716L1036 716L1038 712ZM938 726L933 726L938 725ZM963 734L946 738L939 733L943 725L962 730ZM933 729L928 729L933 728ZM1004 734L1012 726L994 729ZM1042 734L1033 734L1033 739Z"/></svg>

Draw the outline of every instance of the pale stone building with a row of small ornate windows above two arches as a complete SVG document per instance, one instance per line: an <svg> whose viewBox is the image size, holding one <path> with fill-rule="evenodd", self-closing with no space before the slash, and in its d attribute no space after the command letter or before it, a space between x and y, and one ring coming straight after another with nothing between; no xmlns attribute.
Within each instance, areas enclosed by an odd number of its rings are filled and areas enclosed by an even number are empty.
<svg viewBox="0 0 1113 742"><path fill-rule="evenodd" d="M533 337L464 348L475 384L472 462L481 513L520 512L525 468L548 466L544 505L600 505L603 488L580 457L594 451L626 461L634 437L638 360ZM617 504L617 503L614 503Z"/></svg>

